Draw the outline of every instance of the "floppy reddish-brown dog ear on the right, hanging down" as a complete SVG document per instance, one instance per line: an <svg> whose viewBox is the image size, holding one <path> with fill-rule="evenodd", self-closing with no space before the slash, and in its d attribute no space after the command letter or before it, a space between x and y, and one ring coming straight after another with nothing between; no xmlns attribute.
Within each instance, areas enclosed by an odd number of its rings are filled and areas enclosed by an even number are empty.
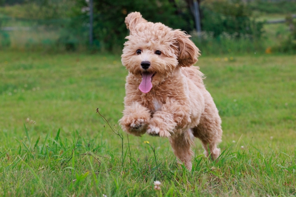
<svg viewBox="0 0 296 197"><path fill-rule="evenodd" d="M180 30L174 30L174 45L175 53L178 57L180 66L191 66L197 62L197 57L200 56L200 50L189 39L191 36Z"/></svg>

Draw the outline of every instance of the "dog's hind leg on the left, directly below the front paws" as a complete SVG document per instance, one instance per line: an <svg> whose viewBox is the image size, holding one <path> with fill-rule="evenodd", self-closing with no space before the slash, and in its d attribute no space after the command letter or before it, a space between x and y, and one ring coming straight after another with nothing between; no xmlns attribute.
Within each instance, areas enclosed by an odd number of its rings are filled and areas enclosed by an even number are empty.
<svg viewBox="0 0 296 197"><path fill-rule="evenodd" d="M177 162L181 164L184 163L186 168L190 171L192 169L191 159L194 154L191 150L193 138L194 136L192 135L192 131L190 129L184 133L170 137L170 144L177 157Z"/></svg>

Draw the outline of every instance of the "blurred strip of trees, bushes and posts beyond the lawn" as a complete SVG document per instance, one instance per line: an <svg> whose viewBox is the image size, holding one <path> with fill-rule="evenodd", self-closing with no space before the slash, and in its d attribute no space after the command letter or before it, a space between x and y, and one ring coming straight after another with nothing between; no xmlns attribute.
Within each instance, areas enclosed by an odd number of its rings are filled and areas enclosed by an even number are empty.
<svg viewBox="0 0 296 197"><path fill-rule="evenodd" d="M0 0L0 48L120 54L134 11L188 32L203 55L296 52L294 0Z"/></svg>

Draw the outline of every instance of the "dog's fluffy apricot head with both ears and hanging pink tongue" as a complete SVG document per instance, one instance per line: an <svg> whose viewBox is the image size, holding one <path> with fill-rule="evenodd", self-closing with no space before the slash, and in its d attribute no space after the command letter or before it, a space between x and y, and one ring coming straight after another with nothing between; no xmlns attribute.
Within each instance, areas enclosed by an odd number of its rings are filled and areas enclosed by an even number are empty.
<svg viewBox="0 0 296 197"><path fill-rule="evenodd" d="M179 66L191 66L200 55L189 35L162 23L147 22L139 12L125 20L130 35L124 43L121 61L147 93L153 85L165 81Z"/></svg>

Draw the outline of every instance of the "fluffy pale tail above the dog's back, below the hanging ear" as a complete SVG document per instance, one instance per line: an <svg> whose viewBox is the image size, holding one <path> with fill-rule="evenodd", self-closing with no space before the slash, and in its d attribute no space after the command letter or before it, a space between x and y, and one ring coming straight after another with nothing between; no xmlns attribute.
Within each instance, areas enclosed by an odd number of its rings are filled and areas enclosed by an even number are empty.
<svg viewBox="0 0 296 197"><path fill-rule="evenodd" d="M200 87L200 88L205 87L202 80L202 79L205 79L205 75L200 71L200 67L198 66L182 67L181 70L186 77L194 81L194 84L197 87Z"/></svg>

